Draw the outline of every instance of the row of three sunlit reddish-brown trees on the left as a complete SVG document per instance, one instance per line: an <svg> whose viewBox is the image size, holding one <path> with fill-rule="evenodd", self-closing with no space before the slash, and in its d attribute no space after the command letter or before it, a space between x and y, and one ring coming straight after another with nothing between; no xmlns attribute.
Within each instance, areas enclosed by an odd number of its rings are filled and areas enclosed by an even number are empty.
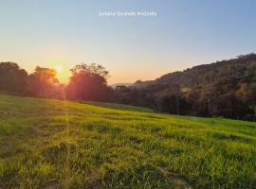
<svg viewBox="0 0 256 189"><path fill-rule="evenodd" d="M65 86L60 84L55 69L36 66L27 74L15 62L0 62L0 92L31 97L70 100L111 101L107 86L108 71L99 64L79 64L70 69L72 76Z"/></svg>

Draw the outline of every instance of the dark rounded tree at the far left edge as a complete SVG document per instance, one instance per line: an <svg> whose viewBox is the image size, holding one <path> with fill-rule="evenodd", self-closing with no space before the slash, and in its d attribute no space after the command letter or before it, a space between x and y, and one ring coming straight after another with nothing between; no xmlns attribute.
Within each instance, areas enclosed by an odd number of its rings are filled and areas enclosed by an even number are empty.
<svg viewBox="0 0 256 189"><path fill-rule="evenodd" d="M0 91L11 94L22 94L25 89L27 72L17 63L0 63Z"/></svg>

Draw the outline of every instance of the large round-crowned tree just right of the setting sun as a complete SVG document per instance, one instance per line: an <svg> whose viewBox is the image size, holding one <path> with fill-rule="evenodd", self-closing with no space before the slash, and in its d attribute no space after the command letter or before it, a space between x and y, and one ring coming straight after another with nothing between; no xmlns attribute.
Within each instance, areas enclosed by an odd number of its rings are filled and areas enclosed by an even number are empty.
<svg viewBox="0 0 256 189"><path fill-rule="evenodd" d="M70 69L72 76L66 87L66 95L71 99L106 101L108 71L99 64L79 64Z"/></svg>

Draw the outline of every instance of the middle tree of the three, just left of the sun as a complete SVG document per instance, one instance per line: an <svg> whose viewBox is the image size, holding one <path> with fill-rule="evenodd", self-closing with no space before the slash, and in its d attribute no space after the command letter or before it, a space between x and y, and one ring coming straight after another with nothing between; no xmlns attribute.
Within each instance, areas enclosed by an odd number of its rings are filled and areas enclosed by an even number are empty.
<svg viewBox="0 0 256 189"><path fill-rule="evenodd" d="M50 97L51 91L59 83L56 70L36 66L34 73L27 77L25 95L34 97Z"/></svg>

